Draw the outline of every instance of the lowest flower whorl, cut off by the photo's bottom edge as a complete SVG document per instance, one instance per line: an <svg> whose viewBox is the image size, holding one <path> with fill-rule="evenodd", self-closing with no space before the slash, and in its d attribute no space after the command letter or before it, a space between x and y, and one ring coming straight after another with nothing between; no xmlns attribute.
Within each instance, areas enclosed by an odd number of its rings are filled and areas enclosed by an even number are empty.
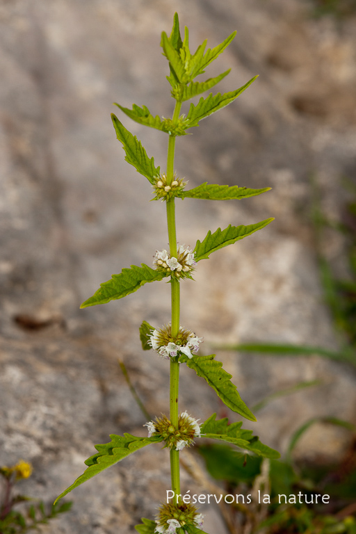
<svg viewBox="0 0 356 534"><path fill-rule="evenodd" d="M186 524L195 525L202 528L203 515L197 513L197 508L186 503L167 503L162 504L159 508L159 514L156 516L155 533L174 534L177 528Z"/></svg>

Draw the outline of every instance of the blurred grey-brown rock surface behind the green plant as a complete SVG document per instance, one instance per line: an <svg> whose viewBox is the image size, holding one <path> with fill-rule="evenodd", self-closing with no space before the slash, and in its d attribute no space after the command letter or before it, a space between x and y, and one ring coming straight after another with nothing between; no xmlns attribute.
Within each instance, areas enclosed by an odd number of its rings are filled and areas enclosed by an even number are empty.
<svg viewBox="0 0 356 534"><path fill-rule="evenodd" d="M118 358L149 413L168 412L167 362L140 348L143 319L169 321L170 287L147 284L124 300L79 310L100 282L131 264L151 264L168 241L165 206L147 202L149 182L124 161L112 102L170 116L168 62L159 47L175 10L191 49L216 46L235 29L208 77L232 67L221 92L259 78L238 100L177 140L176 168L202 181L271 186L243 201L177 201L178 239L194 247L208 229L275 221L213 254L182 287L181 324L211 343L277 341L338 350L324 302L312 225L312 182L337 220L355 180L356 17L314 17L303 0L0 1L0 464L33 463L24 492L54 500L108 434L145 435ZM324 14L323 14L324 15ZM339 16L340 15L340 16ZM116 111L115 111L116 109ZM120 111L119 111L120 113ZM119 115L165 168L167 138ZM345 240L325 254L347 276ZM282 453L312 416L356 417L355 372L320 357L221 352L243 399L321 380L270 403L245 423ZM202 379L181 370L181 408L204 420L221 412ZM232 414L231 421L238 420ZM300 455L338 455L347 435L323 425ZM183 489L204 487L183 471ZM152 517L170 484L168 454L140 451L72 494L72 512L44 532L133 531ZM207 530L223 532L216 510Z"/></svg>

